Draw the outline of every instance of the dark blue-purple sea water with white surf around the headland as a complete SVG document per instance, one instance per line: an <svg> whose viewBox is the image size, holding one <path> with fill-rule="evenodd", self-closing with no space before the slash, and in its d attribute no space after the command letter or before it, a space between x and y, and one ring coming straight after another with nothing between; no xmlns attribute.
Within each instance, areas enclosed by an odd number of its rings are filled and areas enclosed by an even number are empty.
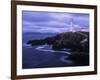
<svg viewBox="0 0 100 80"><path fill-rule="evenodd" d="M28 45L29 40L44 39L56 34L24 33L22 40L22 68L47 68L88 65L86 61L76 62L69 58L70 52L47 51L37 49L39 46ZM85 62L85 64L84 64ZM81 64L80 64L81 63Z"/></svg>

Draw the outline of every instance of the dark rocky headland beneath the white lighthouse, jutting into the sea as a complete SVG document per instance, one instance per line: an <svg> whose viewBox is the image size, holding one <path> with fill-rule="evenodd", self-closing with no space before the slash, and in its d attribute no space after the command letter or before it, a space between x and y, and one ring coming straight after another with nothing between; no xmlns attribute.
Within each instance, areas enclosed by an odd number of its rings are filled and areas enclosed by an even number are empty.
<svg viewBox="0 0 100 80"><path fill-rule="evenodd" d="M72 51L89 51L89 32L64 32L42 40L30 40L27 44L52 45L53 50L71 49Z"/></svg>

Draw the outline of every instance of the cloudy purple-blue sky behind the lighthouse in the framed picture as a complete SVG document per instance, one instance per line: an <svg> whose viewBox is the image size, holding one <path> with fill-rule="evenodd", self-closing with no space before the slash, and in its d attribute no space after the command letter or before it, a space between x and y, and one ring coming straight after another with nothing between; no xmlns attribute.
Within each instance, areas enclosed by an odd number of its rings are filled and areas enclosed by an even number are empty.
<svg viewBox="0 0 100 80"><path fill-rule="evenodd" d="M70 31L71 21L78 30L89 30L89 14L22 11L23 33L62 33Z"/></svg>

